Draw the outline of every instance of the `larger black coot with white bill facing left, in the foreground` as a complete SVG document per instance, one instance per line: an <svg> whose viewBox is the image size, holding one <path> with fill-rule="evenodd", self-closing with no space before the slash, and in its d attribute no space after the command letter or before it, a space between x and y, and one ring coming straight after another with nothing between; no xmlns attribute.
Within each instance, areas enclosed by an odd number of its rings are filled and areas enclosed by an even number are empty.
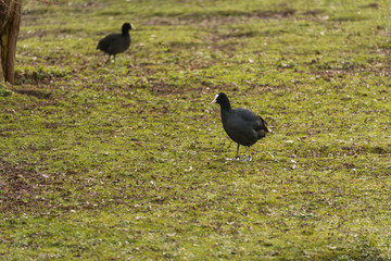
<svg viewBox="0 0 391 261"><path fill-rule="evenodd" d="M251 161L250 146L270 132L266 127L266 122L248 109L231 109L228 97L224 92L216 95L212 103L220 105L223 127L228 136L238 144L235 159L239 160L239 146L242 145L249 147L249 157L244 160Z"/></svg>

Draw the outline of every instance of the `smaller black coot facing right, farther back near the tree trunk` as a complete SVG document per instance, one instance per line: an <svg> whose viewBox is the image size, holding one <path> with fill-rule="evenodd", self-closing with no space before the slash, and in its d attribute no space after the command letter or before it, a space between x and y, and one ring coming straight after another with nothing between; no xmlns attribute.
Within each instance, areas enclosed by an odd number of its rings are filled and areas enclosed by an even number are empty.
<svg viewBox="0 0 391 261"><path fill-rule="evenodd" d="M129 23L123 24L122 34L110 34L98 42L97 49L104 51L110 57L126 51L130 46L129 30L135 29Z"/></svg>

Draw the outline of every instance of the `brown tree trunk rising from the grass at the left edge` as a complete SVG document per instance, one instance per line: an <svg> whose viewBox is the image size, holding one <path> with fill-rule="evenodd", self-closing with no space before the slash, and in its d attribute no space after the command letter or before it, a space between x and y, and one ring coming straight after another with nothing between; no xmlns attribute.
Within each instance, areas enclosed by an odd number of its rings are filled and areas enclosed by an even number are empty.
<svg viewBox="0 0 391 261"><path fill-rule="evenodd" d="M22 18L22 0L0 0L0 57L5 82L15 82L16 42Z"/></svg>

